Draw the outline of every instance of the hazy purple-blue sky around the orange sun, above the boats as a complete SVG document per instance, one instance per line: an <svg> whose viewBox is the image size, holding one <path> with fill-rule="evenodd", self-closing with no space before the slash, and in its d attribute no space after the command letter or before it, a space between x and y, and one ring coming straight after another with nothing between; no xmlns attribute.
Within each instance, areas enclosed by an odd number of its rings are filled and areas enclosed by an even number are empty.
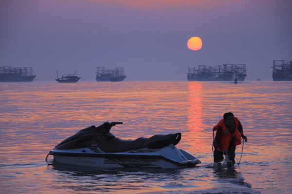
<svg viewBox="0 0 292 194"><path fill-rule="evenodd" d="M0 0L0 66L33 67L37 81L57 69L95 81L98 66L187 80L188 67L226 63L272 80L273 60L292 60L292 0Z"/></svg>

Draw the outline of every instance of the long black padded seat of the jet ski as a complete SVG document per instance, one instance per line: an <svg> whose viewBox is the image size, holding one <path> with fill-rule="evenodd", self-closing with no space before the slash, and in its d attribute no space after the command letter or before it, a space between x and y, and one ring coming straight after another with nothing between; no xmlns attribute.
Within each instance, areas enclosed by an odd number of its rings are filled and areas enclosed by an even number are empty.
<svg viewBox="0 0 292 194"><path fill-rule="evenodd" d="M140 137L136 140L122 140L117 137L102 142L99 148L105 152L123 152L142 148L159 149L170 144L178 144L181 140L181 133L167 135L153 135L150 138Z"/></svg>

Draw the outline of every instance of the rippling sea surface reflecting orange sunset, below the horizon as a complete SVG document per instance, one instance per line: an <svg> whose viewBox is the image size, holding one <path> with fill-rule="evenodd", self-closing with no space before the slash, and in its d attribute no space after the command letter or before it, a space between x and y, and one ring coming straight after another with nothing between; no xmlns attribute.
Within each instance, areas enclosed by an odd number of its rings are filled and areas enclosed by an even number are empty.
<svg viewBox="0 0 292 194"><path fill-rule="evenodd" d="M206 168L212 127L228 111L248 137L240 165ZM45 161L65 138L106 121L124 123L111 129L122 139L181 132L177 147L202 163L109 170ZM3 194L290 194L292 81L0 83L0 142Z"/></svg>

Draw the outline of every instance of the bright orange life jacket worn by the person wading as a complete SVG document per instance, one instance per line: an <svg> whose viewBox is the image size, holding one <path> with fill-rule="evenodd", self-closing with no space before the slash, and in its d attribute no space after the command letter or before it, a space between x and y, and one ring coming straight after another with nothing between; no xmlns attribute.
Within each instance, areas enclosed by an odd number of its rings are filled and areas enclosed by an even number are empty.
<svg viewBox="0 0 292 194"><path fill-rule="evenodd" d="M214 131L217 130L218 126L222 127L223 133L222 133L222 138L221 138L221 144L227 152L228 152L229 142L233 137L234 137L234 145L235 146L241 144L241 135L238 131L239 121L238 121L237 117L234 117L234 121L235 121L235 127L234 127L233 134L229 133L229 131L224 123L224 119L220 120L219 123L213 128L213 138L214 138ZM222 151L221 149L219 149L219 147L217 148L217 150Z"/></svg>

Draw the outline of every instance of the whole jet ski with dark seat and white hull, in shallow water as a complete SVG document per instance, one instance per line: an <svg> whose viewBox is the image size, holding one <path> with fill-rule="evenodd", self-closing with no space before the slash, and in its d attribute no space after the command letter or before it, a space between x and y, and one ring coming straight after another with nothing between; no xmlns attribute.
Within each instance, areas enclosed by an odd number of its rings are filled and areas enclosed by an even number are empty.
<svg viewBox="0 0 292 194"><path fill-rule="evenodd" d="M181 133L123 140L110 129L122 122L106 122L78 131L55 146L46 157L54 162L97 168L182 168L194 167L201 161L177 149Z"/></svg>

